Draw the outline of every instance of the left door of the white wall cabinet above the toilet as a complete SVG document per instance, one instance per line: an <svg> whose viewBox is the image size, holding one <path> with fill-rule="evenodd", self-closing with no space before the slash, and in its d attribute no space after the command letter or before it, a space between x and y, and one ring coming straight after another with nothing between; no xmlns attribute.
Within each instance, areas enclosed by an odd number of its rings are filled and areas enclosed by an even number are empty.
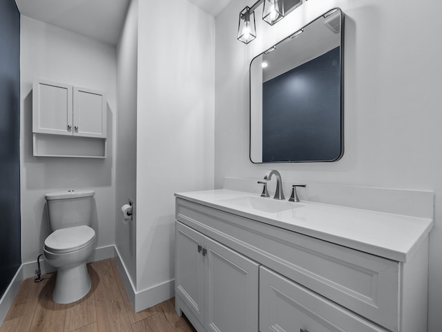
<svg viewBox="0 0 442 332"><path fill-rule="evenodd" d="M34 80L32 131L73 135L73 86Z"/></svg>

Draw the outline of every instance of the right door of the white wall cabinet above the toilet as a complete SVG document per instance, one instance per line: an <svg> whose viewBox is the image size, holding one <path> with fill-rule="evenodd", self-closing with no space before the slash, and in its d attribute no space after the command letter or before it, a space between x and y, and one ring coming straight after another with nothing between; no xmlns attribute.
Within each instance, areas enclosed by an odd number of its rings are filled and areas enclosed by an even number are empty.
<svg viewBox="0 0 442 332"><path fill-rule="evenodd" d="M74 86L74 136L106 138L106 95Z"/></svg>

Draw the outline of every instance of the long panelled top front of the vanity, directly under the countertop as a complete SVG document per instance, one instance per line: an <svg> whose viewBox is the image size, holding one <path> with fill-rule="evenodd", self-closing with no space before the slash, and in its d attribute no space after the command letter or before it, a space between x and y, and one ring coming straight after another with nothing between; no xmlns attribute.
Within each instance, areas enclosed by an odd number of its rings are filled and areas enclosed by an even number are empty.
<svg viewBox="0 0 442 332"><path fill-rule="evenodd" d="M191 228L390 331L398 331L398 261L183 199L177 199L176 212L176 219Z"/></svg>

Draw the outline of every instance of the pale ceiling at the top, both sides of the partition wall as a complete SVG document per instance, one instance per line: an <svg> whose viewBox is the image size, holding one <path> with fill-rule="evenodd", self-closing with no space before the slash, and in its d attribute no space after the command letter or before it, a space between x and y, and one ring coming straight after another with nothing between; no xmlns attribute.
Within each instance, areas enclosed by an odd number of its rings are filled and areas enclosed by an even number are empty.
<svg viewBox="0 0 442 332"><path fill-rule="evenodd" d="M15 0L21 15L112 45L117 44L129 1ZM188 1L216 17L231 0Z"/></svg>

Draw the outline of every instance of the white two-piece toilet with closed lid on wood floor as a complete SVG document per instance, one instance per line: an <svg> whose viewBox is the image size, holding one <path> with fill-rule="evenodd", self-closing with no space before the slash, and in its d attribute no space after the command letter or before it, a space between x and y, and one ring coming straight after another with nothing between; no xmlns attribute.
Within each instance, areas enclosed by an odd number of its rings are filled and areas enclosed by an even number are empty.
<svg viewBox="0 0 442 332"><path fill-rule="evenodd" d="M44 241L44 257L57 270L52 299L61 304L78 301L90 291L86 259L95 249L89 227L93 190L68 190L45 195L52 233Z"/></svg>

